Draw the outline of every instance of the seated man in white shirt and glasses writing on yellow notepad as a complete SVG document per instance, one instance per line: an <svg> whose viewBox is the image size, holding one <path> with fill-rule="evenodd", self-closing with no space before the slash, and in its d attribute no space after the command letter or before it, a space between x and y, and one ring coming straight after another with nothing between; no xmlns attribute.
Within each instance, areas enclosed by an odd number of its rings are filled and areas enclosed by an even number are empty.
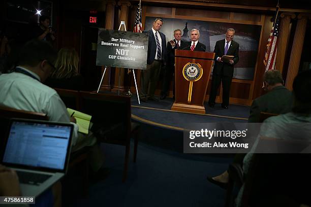
<svg viewBox="0 0 311 207"><path fill-rule="evenodd" d="M57 92L43 84L55 70L56 58L57 52L48 42L27 42L19 51L15 71L0 76L0 106L44 113L49 121L76 123ZM95 136L78 133L78 125L74 124L72 152L91 146L89 159L93 172L99 171L103 163L96 143Z"/></svg>

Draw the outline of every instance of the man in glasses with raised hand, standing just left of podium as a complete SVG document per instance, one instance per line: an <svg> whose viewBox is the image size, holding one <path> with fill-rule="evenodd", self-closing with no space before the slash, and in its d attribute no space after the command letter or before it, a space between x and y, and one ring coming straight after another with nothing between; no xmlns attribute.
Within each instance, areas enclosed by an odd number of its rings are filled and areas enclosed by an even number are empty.
<svg viewBox="0 0 311 207"><path fill-rule="evenodd" d="M181 41L181 30L174 30L174 40L171 40L167 43L166 47L166 65L165 72L163 77L163 85L161 91L161 98L165 99L167 95L167 91L169 89L170 82L172 80L173 74L175 72L175 49L179 49L180 45L183 43ZM174 81L173 81L174 82ZM175 96L175 86L173 85L173 98Z"/></svg>

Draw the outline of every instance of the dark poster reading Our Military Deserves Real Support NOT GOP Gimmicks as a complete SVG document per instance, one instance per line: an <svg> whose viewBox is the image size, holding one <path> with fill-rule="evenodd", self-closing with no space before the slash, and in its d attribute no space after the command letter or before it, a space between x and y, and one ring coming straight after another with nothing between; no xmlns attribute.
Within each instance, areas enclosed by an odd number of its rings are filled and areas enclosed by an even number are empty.
<svg viewBox="0 0 311 207"><path fill-rule="evenodd" d="M148 34L99 28L96 65L147 67Z"/></svg>

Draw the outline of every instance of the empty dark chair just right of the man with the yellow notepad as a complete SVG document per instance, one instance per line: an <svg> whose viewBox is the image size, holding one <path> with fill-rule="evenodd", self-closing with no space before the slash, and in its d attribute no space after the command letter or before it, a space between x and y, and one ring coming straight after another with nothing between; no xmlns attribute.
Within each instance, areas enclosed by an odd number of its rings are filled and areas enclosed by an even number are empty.
<svg viewBox="0 0 311 207"><path fill-rule="evenodd" d="M127 179L131 135L134 135L134 162L137 157L139 125L131 123L131 97L80 91L81 112L92 116L92 131L101 141L126 146L122 182Z"/></svg>

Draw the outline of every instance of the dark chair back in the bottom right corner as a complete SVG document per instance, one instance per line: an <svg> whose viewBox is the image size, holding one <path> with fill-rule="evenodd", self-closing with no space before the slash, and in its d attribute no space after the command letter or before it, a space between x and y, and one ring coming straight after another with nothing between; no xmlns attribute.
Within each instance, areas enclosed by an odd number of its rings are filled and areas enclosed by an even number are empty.
<svg viewBox="0 0 311 207"><path fill-rule="evenodd" d="M242 195L242 206L310 204L310 154L254 154ZM304 187L303 187L304 186Z"/></svg>

